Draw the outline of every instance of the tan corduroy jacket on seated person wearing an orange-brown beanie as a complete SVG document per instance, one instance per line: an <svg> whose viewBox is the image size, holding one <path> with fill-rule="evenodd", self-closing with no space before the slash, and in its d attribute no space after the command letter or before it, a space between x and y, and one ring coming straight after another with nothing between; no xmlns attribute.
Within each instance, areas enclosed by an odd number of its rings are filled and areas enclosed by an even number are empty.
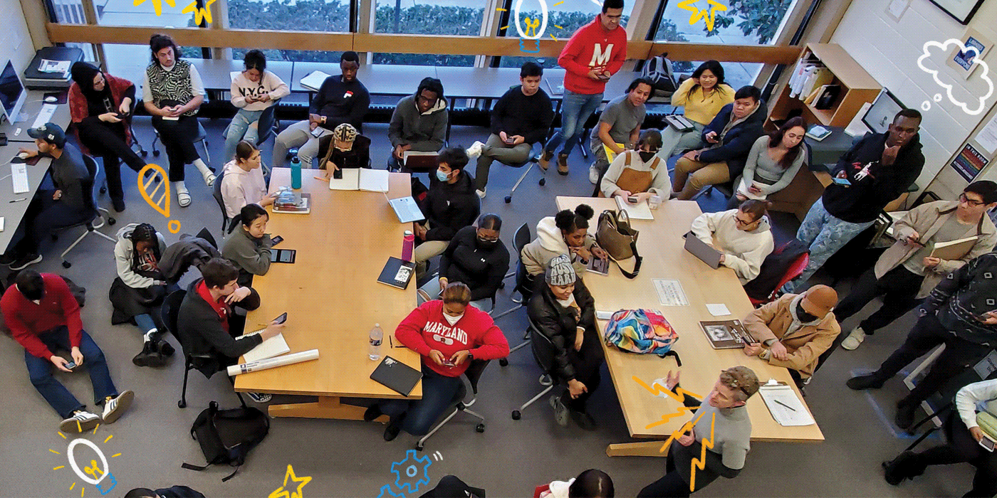
<svg viewBox="0 0 997 498"><path fill-rule="evenodd" d="M797 294L787 294L748 315L744 320L745 329L761 343L770 339L779 340L786 347L789 357L786 361L769 357L769 365L785 367L800 372L807 378L814 374L821 354L831 348L834 338L841 332L834 313L829 313L817 325L801 327L793 334L786 331L793 325L793 300Z"/></svg>

